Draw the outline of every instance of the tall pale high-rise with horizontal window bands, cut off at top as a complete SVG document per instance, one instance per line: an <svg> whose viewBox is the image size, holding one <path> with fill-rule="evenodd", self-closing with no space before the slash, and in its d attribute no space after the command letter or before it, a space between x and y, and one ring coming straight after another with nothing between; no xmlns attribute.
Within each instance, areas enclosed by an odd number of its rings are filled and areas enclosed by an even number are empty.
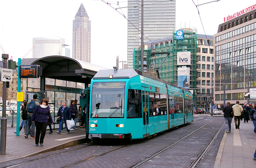
<svg viewBox="0 0 256 168"><path fill-rule="evenodd" d="M143 1L143 4L144 42L172 36L175 30L175 0ZM133 50L141 44L141 0L128 0L128 6L127 66L132 68Z"/></svg>

